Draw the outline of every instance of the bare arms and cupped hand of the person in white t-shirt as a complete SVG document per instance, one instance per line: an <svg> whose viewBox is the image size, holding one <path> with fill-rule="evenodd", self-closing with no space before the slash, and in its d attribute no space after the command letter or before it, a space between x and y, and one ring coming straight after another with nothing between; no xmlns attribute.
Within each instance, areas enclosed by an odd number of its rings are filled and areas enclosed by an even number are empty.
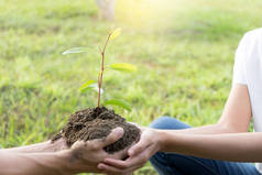
<svg viewBox="0 0 262 175"><path fill-rule="evenodd" d="M207 158L262 162L262 133L248 133L251 105L248 88L236 84L217 124L186 130L144 129L125 161L106 158L99 168L130 173L159 151Z"/></svg>

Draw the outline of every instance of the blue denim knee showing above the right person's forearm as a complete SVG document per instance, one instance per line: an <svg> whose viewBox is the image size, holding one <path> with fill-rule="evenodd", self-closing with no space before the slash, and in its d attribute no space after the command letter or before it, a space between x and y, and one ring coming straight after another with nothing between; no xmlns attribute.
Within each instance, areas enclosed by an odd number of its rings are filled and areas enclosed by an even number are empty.
<svg viewBox="0 0 262 175"><path fill-rule="evenodd" d="M186 129L186 128L190 128L190 127L181 122L179 120L177 120L175 118L163 116L163 117L160 117L156 120L154 120L150 124L150 128L178 130L178 129Z"/></svg>

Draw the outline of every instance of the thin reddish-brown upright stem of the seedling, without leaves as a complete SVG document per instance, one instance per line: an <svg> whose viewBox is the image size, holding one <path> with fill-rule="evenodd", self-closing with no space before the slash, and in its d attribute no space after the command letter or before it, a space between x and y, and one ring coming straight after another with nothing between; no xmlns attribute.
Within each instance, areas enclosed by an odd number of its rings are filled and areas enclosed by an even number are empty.
<svg viewBox="0 0 262 175"><path fill-rule="evenodd" d="M101 99L102 76L103 76L103 70L105 70L105 53L106 53L106 48L107 48L110 36L111 36L111 33L108 35L106 43L103 45L103 48L101 51L101 68L100 68L99 75L98 75L98 101L97 101L98 110L100 107L100 99ZM98 110L97 110L97 112L98 112Z"/></svg>

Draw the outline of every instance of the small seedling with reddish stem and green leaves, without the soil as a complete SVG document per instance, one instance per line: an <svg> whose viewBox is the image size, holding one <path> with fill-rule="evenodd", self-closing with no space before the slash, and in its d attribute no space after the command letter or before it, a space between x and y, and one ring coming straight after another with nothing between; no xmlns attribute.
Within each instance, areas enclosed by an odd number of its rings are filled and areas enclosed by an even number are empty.
<svg viewBox="0 0 262 175"><path fill-rule="evenodd" d="M106 42L102 46L102 50L99 50L100 53L100 70L98 73L98 80L87 80L80 88L79 90L81 92L85 92L87 90L97 90L98 91L98 98L97 98L97 108L99 109L100 103L101 103L101 94L102 94L102 79L103 79L103 74L106 69L113 69L113 70L118 70L118 72L122 72L122 73L132 73L135 72L137 68L135 66L128 64L128 63L116 63L116 64L111 64L111 65L106 65L105 64L105 57L106 57L106 48L107 45L110 41L112 41L113 39L116 39L117 36L119 36L121 33L121 29L118 28L114 31L110 32L106 39ZM63 55L66 54L75 54L75 53L86 53L88 52L88 47L74 47L70 50L65 51L64 53L62 53ZM112 106L119 106L121 108L124 108L127 110L131 110L130 107L127 105L127 102L124 102L124 100L119 100L119 99L110 99L107 100L102 103L103 106L107 105L112 105Z"/></svg>

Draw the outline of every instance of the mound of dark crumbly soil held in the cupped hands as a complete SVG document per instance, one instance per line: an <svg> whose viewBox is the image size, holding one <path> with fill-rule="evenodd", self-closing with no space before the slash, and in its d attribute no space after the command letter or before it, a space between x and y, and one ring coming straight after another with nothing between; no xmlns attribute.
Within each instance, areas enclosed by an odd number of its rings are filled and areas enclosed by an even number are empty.
<svg viewBox="0 0 262 175"><path fill-rule="evenodd" d="M70 147L78 140L105 139L117 127L123 128L123 136L113 144L103 147L106 152L112 154L138 141L140 129L128 123L124 118L106 107L88 108L75 112L69 117L62 131L52 139L52 142L64 138Z"/></svg>

